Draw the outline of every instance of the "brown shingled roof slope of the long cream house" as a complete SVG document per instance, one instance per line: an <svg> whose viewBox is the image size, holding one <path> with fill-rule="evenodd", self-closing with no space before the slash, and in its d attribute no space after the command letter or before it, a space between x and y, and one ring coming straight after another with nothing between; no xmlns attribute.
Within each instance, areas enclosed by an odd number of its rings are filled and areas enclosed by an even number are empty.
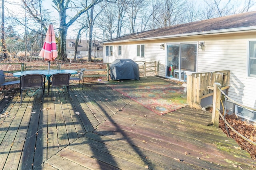
<svg viewBox="0 0 256 170"><path fill-rule="evenodd" d="M115 41L129 41L138 39L157 38L170 35L182 35L188 33L204 33L206 31L217 31L222 29L243 28L256 26L256 11L224 16L209 20L195 21L170 27L162 27L139 33L124 35L115 39L104 41L102 43Z"/></svg>

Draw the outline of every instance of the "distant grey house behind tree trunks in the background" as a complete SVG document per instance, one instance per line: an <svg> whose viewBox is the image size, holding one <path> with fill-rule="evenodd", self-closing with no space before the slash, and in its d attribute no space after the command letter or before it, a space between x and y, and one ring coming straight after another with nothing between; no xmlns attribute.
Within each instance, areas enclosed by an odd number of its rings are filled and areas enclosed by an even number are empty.
<svg viewBox="0 0 256 170"><path fill-rule="evenodd" d="M75 55L75 39L67 39L67 57L68 59L74 59ZM92 41L92 58L102 58L102 45L99 44L98 40ZM79 40L76 59L86 58L88 57L88 43L87 40Z"/></svg>

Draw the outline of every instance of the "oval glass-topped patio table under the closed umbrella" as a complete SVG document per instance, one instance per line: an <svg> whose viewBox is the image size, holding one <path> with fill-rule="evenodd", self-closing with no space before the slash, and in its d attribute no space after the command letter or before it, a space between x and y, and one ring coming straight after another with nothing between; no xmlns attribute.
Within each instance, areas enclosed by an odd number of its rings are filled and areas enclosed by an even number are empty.
<svg viewBox="0 0 256 170"><path fill-rule="evenodd" d="M20 77L26 74L44 74L48 80L48 95L50 92L50 76L56 73L70 73L70 74L77 74L76 70L27 70L27 71L20 71L13 73L13 76Z"/></svg>

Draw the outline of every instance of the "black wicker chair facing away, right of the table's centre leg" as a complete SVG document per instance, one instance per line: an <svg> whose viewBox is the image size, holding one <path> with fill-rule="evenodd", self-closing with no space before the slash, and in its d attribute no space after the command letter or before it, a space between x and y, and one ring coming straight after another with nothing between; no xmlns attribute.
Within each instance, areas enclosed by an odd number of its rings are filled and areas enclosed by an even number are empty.
<svg viewBox="0 0 256 170"><path fill-rule="evenodd" d="M62 91L63 88L66 88L66 91L68 93L69 90L69 81L70 81L70 73L57 73L52 74L51 82L52 82L52 97L53 97L53 88L57 88L59 92Z"/></svg>

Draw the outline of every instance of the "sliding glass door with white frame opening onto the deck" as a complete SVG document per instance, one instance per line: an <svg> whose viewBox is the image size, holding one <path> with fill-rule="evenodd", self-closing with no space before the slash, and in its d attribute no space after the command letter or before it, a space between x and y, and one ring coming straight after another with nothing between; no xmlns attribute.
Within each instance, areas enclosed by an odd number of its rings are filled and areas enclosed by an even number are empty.
<svg viewBox="0 0 256 170"><path fill-rule="evenodd" d="M168 44L166 76L186 81L186 71L196 72L197 44Z"/></svg>

